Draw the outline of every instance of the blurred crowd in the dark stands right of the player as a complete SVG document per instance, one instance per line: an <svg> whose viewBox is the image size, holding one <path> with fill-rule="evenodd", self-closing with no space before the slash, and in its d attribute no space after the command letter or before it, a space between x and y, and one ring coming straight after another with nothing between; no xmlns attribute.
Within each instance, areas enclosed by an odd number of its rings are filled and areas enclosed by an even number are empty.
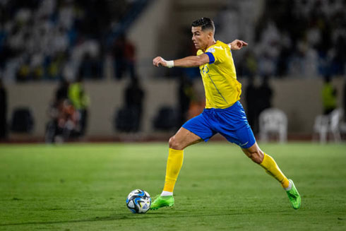
<svg viewBox="0 0 346 231"><path fill-rule="evenodd" d="M267 0L255 42L238 62L240 76L344 75L346 1Z"/></svg>

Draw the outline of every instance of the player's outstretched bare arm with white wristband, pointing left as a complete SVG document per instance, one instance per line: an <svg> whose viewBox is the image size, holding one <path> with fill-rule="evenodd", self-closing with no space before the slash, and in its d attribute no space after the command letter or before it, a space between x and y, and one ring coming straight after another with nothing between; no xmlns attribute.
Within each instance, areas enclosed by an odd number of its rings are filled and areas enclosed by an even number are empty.
<svg viewBox="0 0 346 231"><path fill-rule="evenodd" d="M200 54L198 56L189 56L182 59L166 61L162 57L156 57L153 59L154 66L165 66L165 67L196 67L209 63L209 56L207 54Z"/></svg>

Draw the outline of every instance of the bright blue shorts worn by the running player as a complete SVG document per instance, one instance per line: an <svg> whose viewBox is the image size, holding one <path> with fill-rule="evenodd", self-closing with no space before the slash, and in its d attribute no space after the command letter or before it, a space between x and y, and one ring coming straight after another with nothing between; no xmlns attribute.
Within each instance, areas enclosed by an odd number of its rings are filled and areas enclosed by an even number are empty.
<svg viewBox="0 0 346 231"><path fill-rule="evenodd" d="M203 109L201 114L183 124L183 128L201 137L205 142L217 133L241 148L250 148L256 142L239 101L225 109Z"/></svg>

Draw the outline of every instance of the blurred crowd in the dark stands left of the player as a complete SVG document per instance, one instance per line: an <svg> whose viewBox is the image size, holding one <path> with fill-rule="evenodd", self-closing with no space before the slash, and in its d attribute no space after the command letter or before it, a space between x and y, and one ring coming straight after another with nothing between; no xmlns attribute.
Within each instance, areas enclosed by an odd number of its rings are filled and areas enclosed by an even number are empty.
<svg viewBox="0 0 346 231"><path fill-rule="evenodd" d="M1 0L0 76L12 82L73 81L78 73L102 78L112 28L134 2Z"/></svg>

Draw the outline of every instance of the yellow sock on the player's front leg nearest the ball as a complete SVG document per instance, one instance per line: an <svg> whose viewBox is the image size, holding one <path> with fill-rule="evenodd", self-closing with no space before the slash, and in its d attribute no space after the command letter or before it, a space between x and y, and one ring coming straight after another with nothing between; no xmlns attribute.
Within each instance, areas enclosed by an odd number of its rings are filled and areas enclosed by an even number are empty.
<svg viewBox="0 0 346 231"><path fill-rule="evenodd" d="M163 188L163 191L173 192L175 182L177 182L181 166L183 165L183 159L184 150L174 150L172 148L169 148L165 186Z"/></svg>

